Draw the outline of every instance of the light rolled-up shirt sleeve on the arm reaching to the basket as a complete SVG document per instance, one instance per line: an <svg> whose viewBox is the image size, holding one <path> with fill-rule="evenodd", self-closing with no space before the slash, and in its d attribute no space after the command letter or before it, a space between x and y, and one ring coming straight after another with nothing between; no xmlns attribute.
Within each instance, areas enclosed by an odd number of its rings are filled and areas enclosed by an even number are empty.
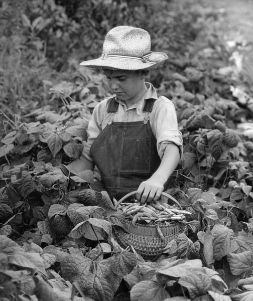
<svg viewBox="0 0 253 301"><path fill-rule="evenodd" d="M166 146L174 143L179 147L180 157L183 154L183 136L178 130L177 114L174 104L161 96L156 102L151 116L151 127L157 139L157 151L163 158Z"/></svg>

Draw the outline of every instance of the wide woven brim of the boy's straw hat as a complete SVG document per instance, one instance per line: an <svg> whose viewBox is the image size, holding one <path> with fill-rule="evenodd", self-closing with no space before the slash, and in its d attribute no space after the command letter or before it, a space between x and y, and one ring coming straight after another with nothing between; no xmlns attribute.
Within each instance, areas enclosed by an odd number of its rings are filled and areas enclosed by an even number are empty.
<svg viewBox="0 0 253 301"><path fill-rule="evenodd" d="M160 68L168 59L167 54L163 52L152 52L148 60L106 57L94 60L83 61L80 66L90 68L119 69L119 70L152 70Z"/></svg>

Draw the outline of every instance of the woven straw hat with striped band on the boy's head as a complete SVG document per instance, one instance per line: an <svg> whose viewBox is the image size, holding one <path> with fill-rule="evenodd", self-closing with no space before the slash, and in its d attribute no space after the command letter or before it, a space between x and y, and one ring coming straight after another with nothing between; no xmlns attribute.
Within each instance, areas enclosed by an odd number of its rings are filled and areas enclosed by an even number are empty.
<svg viewBox="0 0 253 301"><path fill-rule="evenodd" d="M159 68L167 59L167 54L151 51L151 39L146 30L117 26L106 34L101 57L83 61L80 65L91 68L150 70Z"/></svg>

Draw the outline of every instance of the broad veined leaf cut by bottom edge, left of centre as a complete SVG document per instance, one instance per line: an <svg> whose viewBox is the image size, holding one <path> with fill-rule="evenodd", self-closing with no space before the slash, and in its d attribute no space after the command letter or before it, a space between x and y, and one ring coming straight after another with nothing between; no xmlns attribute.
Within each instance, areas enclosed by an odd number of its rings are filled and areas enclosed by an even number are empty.
<svg viewBox="0 0 253 301"><path fill-rule="evenodd" d="M83 274L78 281L85 295L95 301L108 301L113 299L114 292L110 284L96 273Z"/></svg>

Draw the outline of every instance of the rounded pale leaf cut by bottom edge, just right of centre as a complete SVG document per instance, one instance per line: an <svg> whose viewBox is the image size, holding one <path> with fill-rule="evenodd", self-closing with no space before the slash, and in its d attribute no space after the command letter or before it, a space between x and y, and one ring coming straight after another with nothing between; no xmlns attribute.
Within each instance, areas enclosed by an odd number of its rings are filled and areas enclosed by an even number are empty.
<svg viewBox="0 0 253 301"><path fill-rule="evenodd" d="M130 291L131 301L161 301L169 298L169 293L156 281L144 280Z"/></svg>

